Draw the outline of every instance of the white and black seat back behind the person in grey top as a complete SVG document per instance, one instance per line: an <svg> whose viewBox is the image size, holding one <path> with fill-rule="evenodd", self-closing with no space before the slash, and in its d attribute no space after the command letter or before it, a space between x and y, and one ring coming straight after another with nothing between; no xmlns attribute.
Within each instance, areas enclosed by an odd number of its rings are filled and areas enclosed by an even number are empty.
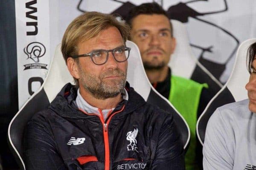
<svg viewBox="0 0 256 170"><path fill-rule="evenodd" d="M247 49L254 42L256 42L256 38L241 43L237 50L236 61L230 78L223 88L221 88L221 90L210 100L204 112L199 117L196 130L201 144L204 143L207 122L216 108L227 103L237 102L248 98L247 91L244 88L250 77L250 74L247 71L246 58Z"/></svg>

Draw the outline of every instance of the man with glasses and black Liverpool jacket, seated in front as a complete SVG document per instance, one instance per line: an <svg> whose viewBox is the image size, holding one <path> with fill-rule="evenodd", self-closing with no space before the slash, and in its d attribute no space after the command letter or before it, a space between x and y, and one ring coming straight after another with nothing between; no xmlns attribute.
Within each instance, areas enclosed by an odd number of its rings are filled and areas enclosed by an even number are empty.
<svg viewBox="0 0 256 170"><path fill-rule="evenodd" d="M29 121L27 170L184 170L172 115L126 82L128 33L110 14L87 12L70 23L61 51L76 85Z"/></svg>

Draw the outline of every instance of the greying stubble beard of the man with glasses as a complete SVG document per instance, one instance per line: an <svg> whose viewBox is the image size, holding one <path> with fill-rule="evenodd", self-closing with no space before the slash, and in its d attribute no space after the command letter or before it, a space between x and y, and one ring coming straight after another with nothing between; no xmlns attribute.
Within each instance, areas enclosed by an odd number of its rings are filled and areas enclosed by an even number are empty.
<svg viewBox="0 0 256 170"><path fill-rule="evenodd" d="M107 70L100 74L99 78L93 74L85 73L80 66L79 72L81 76L81 85L96 99L113 98L124 90L126 73L119 68L116 68L115 70ZM119 76L119 78L104 79L104 77L108 76Z"/></svg>

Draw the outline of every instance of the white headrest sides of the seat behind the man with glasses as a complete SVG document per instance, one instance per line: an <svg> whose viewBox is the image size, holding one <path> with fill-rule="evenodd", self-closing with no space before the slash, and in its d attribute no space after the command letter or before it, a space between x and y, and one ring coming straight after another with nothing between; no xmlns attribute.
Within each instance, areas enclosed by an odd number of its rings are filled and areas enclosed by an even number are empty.
<svg viewBox="0 0 256 170"><path fill-rule="evenodd" d="M150 84L143 68L140 51L134 42L127 41L126 46L131 48L128 58L127 81L145 100L148 99ZM61 44L56 47L49 74L44 82L44 90L49 102L55 98L61 88L68 82L73 83L67 65L62 57Z"/></svg>

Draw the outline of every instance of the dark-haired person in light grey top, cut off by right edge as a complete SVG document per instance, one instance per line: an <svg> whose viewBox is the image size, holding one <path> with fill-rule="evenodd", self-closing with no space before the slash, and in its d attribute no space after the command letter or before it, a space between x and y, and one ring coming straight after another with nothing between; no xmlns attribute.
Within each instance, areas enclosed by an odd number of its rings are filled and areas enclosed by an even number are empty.
<svg viewBox="0 0 256 170"><path fill-rule="evenodd" d="M217 108L207 124L204 170L256 170L256 42L247 51L248 99Z"/></svg>

